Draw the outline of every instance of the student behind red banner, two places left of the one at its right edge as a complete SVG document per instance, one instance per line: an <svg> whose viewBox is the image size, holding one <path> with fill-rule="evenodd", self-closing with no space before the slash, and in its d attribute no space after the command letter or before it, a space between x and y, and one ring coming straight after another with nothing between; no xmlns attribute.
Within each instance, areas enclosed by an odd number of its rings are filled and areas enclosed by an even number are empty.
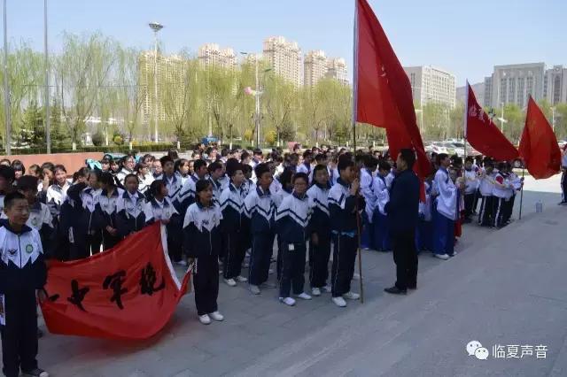
<svg viewBox="0 0 567 377"><path fill-rule="evenodd" d="M102 173L100 183L102 191L95 205L95 216L97 226L103 230L103 250L108 250L120 241L116 224L116 200L124 190L116 187L116 181L111 173Z"/></svg>

